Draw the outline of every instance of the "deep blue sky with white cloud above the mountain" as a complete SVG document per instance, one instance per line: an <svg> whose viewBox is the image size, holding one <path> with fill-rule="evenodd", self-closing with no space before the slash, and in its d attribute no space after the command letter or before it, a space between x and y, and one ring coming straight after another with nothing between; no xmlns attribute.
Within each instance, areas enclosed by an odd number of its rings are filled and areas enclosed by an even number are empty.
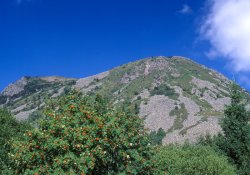
<svg viewBox="0 0 250 175"><path fill-rule="evenodd" d="M160 55L192 58L250 89L250 14L238 13L250 3L233 3L1 0L0 91L25 75L80 78Z"/></svg>

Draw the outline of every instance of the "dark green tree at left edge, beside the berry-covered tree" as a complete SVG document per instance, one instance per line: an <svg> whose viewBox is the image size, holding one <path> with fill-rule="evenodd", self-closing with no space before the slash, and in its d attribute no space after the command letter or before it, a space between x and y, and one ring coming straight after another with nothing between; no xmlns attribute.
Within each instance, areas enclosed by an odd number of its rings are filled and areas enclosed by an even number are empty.
<svg viewBox="0 0 250 175"><path fill-rule="evenodd" d="M30 129L28 124L18 122L7 110L0 109L0 174L6 174L9 168L12 140L21 139L27 129Z"/></svg>

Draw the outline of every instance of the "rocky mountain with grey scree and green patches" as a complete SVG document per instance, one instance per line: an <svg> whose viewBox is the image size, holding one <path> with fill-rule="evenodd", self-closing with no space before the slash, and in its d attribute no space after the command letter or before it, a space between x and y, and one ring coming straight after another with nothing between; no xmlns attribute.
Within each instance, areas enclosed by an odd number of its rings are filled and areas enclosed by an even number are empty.
<svg viewBox="0 0 250 175"><path fill-rule="evenodd" d="M230 83L222 74L190 59L160 56L87 78L22 77L1 92L0 105L25 120L42 109L46 100L76 88L101 94L117 108L132 109L150 131L164 129L164 144L195 142L201 135L221 131L219 120L230 103ZM249 104L249 93L242 91Z"/></svg>

